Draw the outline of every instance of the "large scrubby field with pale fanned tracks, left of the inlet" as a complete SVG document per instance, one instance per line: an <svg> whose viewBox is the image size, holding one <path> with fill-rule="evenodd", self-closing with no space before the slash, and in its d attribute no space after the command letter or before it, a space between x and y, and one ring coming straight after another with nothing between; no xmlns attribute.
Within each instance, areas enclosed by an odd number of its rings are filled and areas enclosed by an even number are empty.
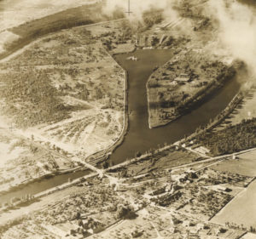
<svg viewBox="0 0 256 239"><path fill-rule="evenodd" d="M0 67L3 112L36 139L89 155L119 137L124 71L86 28L44 37Z"/></svg>

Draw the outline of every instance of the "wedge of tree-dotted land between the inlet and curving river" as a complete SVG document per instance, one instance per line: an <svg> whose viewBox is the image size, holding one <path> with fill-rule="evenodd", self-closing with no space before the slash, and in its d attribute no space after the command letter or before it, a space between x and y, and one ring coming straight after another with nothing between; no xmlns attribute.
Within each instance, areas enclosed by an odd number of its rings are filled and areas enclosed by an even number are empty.
<svg viewBox="0 0 256 239"><path fill-rule="evenodd" d="M181 52L153 72L147 82L150 128L166 125L194 110L234 77L235 64L225 65L212 58L203 51L196 55Z"/></svg>

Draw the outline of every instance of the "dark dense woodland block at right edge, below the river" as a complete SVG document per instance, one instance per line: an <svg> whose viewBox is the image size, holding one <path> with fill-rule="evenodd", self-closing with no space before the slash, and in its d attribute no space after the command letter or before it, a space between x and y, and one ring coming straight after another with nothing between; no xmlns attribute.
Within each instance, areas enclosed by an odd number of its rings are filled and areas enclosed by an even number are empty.
<svg viewBox="0 0 256 239"><path fill-rule="evenodd" d="M256 147L256 118L196 138L214 155L233 153Z"/></svg>

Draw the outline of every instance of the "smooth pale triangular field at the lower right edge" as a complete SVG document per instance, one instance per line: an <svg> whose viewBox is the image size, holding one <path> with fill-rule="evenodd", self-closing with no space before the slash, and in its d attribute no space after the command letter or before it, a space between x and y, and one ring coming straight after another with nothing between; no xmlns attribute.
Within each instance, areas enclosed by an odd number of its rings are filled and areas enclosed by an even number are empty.
<svg viewBox="0 0 256 239"><path fill-rule="evenodd" d="M213 219L213 223L244 225L247 229L256 226L256 181L236 196Z"/></svg>

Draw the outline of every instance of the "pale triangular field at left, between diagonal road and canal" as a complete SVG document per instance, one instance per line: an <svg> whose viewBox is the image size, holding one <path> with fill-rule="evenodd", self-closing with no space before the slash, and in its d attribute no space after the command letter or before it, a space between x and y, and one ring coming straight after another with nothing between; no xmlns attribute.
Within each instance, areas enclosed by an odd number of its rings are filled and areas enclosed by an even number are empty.
<svg viewBox="0 0 256 239"><path fill-rule="evenodd" d="M32 139L20 137L15 132L11 133L5 129L1 130L0 149L1 192L20 184L26 184L45 174L75 167L67 156L61 157L61 154L43 148Z"/></svg>

